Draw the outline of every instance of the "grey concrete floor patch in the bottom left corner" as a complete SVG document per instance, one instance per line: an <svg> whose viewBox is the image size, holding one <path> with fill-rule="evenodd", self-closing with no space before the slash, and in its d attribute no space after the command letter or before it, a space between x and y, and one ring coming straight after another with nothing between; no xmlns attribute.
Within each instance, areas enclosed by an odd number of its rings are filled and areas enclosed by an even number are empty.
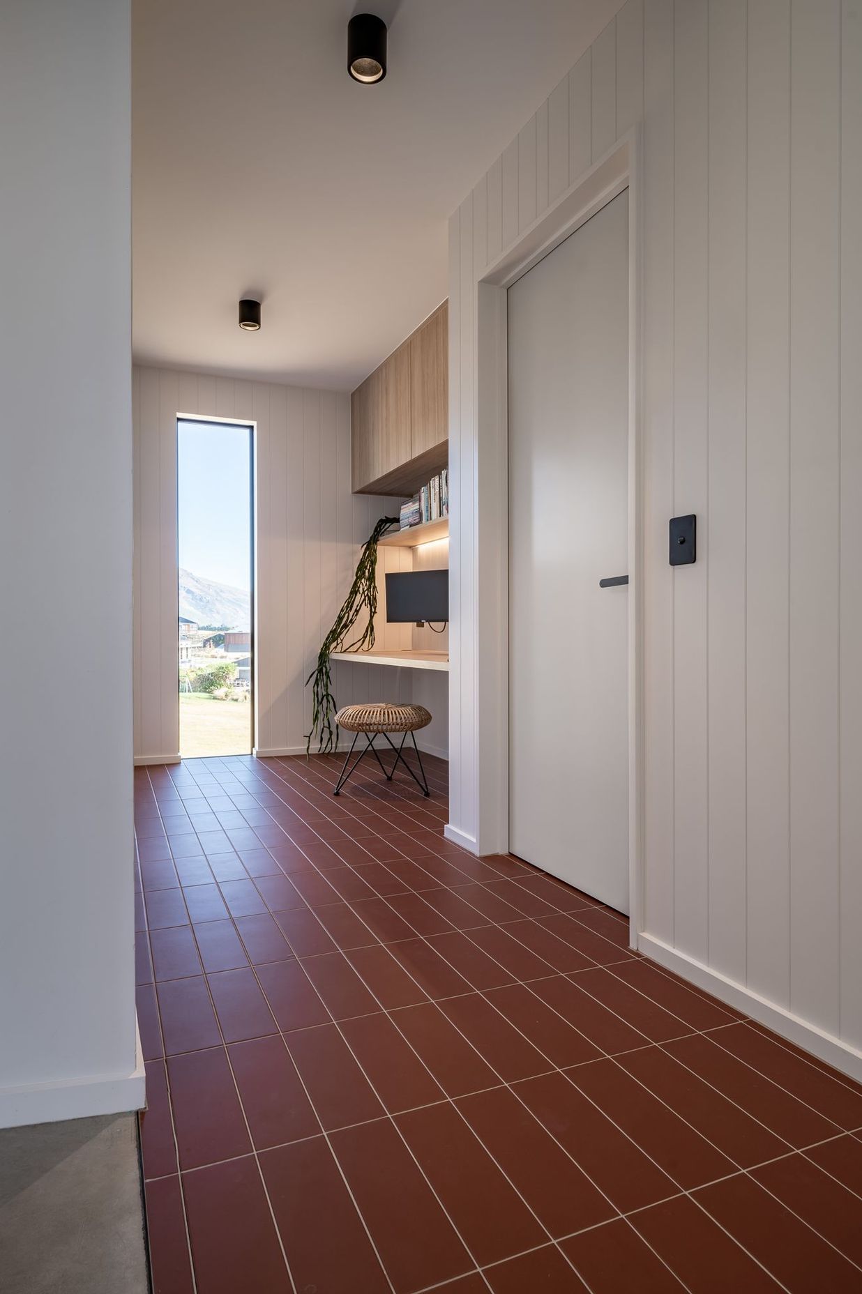
<svg viewBox="0 0 862 1294"><path fill-rule="evenodd" d="M0 1131L3 1294L146 1294L137 1121Z"/></svg>

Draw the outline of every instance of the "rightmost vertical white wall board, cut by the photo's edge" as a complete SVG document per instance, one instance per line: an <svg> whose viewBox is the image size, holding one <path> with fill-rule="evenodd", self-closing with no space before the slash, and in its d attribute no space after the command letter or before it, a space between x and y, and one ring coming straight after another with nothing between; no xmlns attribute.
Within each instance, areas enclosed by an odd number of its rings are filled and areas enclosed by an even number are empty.
<svg viewBox="0 0 862 1294"><path fill-rule="evenodd" d="M841 1038L862 1047L862 0L841 54Z"/></svg>

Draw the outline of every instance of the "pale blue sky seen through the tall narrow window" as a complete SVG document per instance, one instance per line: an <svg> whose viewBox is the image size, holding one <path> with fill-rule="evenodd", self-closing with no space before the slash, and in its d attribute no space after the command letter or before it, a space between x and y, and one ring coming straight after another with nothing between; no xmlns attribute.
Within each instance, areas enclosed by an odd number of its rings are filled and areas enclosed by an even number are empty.
<svg viewBox="0 0 862 1294"><path fill-rule="evenodd" d="M236 589L250 587L249 428L177 424L180 565Z"/></svg>

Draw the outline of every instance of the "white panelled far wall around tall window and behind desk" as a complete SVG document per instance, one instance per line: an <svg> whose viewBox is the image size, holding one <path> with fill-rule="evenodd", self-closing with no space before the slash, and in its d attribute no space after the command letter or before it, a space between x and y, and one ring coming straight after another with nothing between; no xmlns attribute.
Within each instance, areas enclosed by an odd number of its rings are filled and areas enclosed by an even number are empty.
<svg viewBox="0 0 862 1294"><path fill-rule="evenodd" d="M304 686L305 679L349 589L362 543L379 516L397 515L399 499L351 494L348 395L135 366L138 761L179 757L177 411L256 423L258 753L304 752L311 726L311 688ZM410 569L406 549L379 550L381 599L383 575L401 568ZM377 646L409 647L410 625L378 620ZM417 673L335 663L338 704L409 700ZM439 687L423 704L444 713L445 691L437 694ZM441 736L437 731L425 747L437 751L440 741L445 753L445 718Z"/></svg>

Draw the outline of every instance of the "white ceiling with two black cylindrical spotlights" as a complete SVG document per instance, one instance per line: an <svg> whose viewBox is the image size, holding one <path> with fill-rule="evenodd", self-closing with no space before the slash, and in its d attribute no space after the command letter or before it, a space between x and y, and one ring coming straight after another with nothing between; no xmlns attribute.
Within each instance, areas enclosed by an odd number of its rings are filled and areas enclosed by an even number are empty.
<svg viewBox="0 0 862 1294"><path fill-rule="evenodd" d="M352 389L444 299L449 215L620 3L135 0L135 358ZM379 85L346 70L365 8Z"/></svg>

